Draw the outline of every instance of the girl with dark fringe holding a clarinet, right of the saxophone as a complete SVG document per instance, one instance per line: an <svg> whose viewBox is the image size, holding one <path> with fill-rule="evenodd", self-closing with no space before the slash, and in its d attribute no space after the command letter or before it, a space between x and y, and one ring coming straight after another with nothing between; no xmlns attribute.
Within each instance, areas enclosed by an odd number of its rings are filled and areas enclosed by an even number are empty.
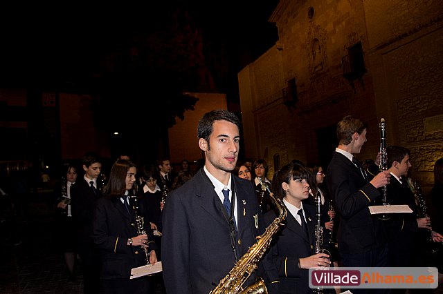
<svg viewBox="0 0 443 294"><path fill-rule="evenodd" d="M285 225L273 237L271 248L264 256L264 268L271 281L269 293L310 293L309 268L329 268L327 253L316 253L316 207L303 204L309 197L309 172L300 164L287 164L274 173L272 191L287 208ZM266 225L271 224L278 213L271 210L264 215ZM328 248L327 240L320 244ZM275 286L276 285L276 286ZM323 289L324 293L335 293Z"/></svg>

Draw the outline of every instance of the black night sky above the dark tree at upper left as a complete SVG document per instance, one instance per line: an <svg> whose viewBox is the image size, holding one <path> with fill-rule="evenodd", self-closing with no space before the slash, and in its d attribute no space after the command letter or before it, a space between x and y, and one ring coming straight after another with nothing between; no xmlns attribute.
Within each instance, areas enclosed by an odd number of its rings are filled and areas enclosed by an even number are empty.
<svg viewBox="0 0 443 294"><path fill-rule="evenodd" d="M278 0L186 2L181 11L188 11L192 26L201 30L206 65L217 87L235 93L237 72L276 41L276 28L267 20ZM104 56L124 50L130 36L163 30L172 9L180 7L171 2L75 5L1 7L1 87L57 88L94 77Z"/></svg>

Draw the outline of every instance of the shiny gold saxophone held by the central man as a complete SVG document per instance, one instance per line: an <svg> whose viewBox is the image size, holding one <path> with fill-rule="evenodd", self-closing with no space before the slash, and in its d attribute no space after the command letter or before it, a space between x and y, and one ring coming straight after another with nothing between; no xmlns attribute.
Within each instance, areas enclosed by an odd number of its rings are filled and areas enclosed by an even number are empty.
<svg viewBox="0 0 443 294"><path fill-rule="evenodd" d="M213 291L210 291L210 294L268 293L262 279L259 279L255 284L245 289L242 287L251 273L257 269L258 262L260 262L264 252L271 244L272 236L277 233L280 226L282 226L282 222L287 217L287 210L284 208L280 199L275 199L269 188L267 188L267 190L275 206L278 208L280 215L273 220L262 235L257 237L257 242L235 263L233 269L230 270L226 277L220 280L217 287L215 287Z"/></svg>

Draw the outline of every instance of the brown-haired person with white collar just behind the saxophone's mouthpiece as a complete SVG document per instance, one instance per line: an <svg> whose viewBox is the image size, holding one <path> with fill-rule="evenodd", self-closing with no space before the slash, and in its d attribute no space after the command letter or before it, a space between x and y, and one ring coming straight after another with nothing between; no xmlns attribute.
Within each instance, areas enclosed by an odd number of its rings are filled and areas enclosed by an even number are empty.
<svg viewBox="0 0 443 294"><path fill-rule="evenodd" d="M271 186L271 182L266 178L268 175L268 164L264 159L257 159L253 164L253 183L255 184L255 193L257 193L258 202L260 203L260 208L262 213L266 213L274 207L271 202L271 197L269 197L269 191L262 186L261 182L268 188Z"/></svg>

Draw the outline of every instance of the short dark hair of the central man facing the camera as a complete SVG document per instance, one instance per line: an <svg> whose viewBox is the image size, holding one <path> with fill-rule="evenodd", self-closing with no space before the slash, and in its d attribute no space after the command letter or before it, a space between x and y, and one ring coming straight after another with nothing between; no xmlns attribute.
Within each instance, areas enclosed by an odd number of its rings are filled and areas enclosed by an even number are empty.
<svg viewBox="0 0 443 294"><path fill-rule="evenodd" d="M197 137L198 139L205 139L208 142L208 150L210 150L209 137L214 130L214 121L221 120L229 121L230 123L235 124L238 129L241 127L239 118L233 112L222 109L206 112L204 116L201 117L197 126Z"/></svg>

